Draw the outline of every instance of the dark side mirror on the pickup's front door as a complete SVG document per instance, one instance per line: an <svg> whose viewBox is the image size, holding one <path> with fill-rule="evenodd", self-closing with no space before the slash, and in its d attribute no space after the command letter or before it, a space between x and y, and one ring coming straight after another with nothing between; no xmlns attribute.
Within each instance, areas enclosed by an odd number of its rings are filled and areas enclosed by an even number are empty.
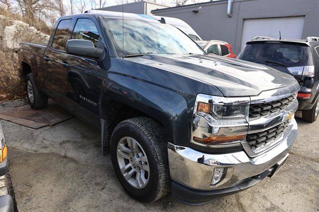
<svg viewBox="0 0 319 212"><path fill-rule="evenodd" d="M99 58L103 56L104 50L95 48L93 42L90 40L73 39L66 42L66 53Z"/></svg>

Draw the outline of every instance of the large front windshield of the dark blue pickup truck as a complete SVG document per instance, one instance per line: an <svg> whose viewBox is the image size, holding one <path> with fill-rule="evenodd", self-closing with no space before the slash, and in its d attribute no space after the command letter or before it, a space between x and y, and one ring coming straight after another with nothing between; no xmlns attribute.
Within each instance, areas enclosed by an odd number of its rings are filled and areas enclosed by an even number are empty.
<svg viewBox="0 0 319 212"><path fill-rule="evenodd" d="M194 41L170 24L104 19L118 56L143 54L205 54ZM123 51L124 31L124 51ZM123 55L124 52L124 55Z"/></svg>

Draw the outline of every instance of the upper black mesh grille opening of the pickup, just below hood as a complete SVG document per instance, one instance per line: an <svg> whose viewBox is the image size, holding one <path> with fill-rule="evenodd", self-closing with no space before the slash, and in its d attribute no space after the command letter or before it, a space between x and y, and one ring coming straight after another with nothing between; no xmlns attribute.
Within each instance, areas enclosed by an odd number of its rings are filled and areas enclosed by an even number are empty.
<svg viewBox="0 0 319 212"><path fill-rule="evenodd" d="M289 96L281 100L276 100L270 103L252 104L249 107L249 117L256 118L263 115L269 115L271 113L278 112L282 109L286 109L290 104L294 102L294 96Z"/></svg>

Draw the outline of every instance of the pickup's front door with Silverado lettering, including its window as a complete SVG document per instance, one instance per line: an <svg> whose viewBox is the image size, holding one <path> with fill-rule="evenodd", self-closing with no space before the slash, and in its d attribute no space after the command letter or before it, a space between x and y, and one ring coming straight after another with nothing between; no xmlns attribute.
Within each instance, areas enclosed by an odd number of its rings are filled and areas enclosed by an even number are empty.
<svg viewBox="0 0 319 212"><path fill-rule="evenodd" d="M100 36L99 27L94 18L80 16L76 19L71 39L84 39L93 42L95 48L104 49L103 39ZM105 65L102 61L69 54L64 63L68 64L67 82L71 90L65 96L77 104L78 110L84 109L79 115L85 115L86 120L91 119L94 125L100 126L99 119L99 99L102 81L105 76ZM89 111L86 113L85 110Z"/></svg>

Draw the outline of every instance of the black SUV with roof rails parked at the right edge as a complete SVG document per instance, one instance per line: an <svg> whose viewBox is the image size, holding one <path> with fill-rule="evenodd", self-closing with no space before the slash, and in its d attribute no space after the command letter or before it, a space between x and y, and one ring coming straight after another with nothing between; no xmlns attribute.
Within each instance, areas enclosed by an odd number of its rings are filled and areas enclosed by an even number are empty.
<svg viewBox="0 0 319 212"><path fill-rule="evenodd" d="M319 37L306 40L256 37L246 43L238 59L264 64L290 74L299 82L299 110L314 122L319 114Z"/></svg>

